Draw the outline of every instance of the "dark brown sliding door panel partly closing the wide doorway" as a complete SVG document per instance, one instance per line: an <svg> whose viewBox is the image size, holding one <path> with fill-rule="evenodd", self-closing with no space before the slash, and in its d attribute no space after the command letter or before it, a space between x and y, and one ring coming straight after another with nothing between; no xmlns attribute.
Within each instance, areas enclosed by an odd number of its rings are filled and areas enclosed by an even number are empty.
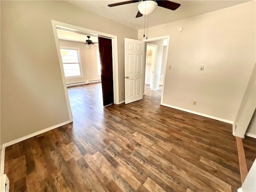
<svg viewBox="0 0 256 192"><path fill-rule="evenodd" d="M103 106L107 106L114 103L112 40L102 37L98 37L98 39L101 63Z"/></svg>

